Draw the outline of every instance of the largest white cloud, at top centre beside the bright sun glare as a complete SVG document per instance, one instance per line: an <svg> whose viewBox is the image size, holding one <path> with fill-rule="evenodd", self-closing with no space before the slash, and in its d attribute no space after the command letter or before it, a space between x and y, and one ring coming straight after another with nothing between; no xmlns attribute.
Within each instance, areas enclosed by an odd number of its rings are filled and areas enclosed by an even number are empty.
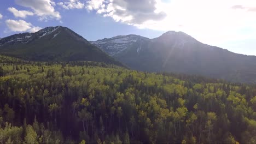
<svg viewBox="0 0 256 144"><path fill-rule="evenodd" d="M98 14L112 17L115 21L122 21L129 25L142 24L145 21L160 21L166 13L159 9L159 0L90 0L86 9L96 10Z"/></svg>

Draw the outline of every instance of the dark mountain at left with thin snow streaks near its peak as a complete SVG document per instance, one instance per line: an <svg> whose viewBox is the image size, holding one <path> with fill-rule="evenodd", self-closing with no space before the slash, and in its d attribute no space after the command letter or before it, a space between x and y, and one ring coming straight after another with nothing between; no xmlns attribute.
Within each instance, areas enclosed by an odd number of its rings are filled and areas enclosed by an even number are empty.
<svg viewBox="0 0 256 144"><path fill-rule="evenodd" d="M96 61L121 65L67 27L46 27L0 39L0 53L31 61Z"/></svg>

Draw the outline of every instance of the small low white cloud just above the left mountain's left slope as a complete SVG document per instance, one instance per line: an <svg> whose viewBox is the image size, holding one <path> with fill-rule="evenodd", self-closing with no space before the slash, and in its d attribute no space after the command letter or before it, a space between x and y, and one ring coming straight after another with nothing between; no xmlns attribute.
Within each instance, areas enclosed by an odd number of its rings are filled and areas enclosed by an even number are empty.
<svg viewBox="0 0 256 144"><path fill-rule="evenodd" d="M40 27L34 27L30 22L24 20L5 20L7 27L13 32L36 32Z"/></svg>

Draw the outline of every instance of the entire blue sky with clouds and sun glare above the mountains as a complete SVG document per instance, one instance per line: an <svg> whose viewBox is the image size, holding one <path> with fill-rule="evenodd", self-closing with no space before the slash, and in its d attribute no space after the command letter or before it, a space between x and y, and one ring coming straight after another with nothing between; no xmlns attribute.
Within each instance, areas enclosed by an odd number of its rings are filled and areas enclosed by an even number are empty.
<svg viewBox="0 0 256 144"><path fill-rule="evenodd" d="M182 31L256 56L255 0L1 0L0 38L48 26L66 26L87 40Z"/></svg>

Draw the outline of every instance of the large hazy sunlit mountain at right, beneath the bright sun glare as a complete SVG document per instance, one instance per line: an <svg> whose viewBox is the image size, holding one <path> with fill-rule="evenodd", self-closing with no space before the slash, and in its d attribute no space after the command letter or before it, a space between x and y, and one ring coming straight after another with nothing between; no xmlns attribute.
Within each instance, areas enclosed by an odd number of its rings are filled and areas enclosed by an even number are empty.
<svg viewBox="0 0 256 144"><path fill-rule="evenodd" d="M129 37L122 36L123 39ZM105 47L116 51L117 45L114 43L106 45L112 39L104 39L104 43L97 46L107 53ZM92 44L97 44L97 41ZM168 31L158 38L125 43L122 50L112 56L136 70L203 75L232 82L256 82L255 56L206 45L183 32Z"/></svg>

